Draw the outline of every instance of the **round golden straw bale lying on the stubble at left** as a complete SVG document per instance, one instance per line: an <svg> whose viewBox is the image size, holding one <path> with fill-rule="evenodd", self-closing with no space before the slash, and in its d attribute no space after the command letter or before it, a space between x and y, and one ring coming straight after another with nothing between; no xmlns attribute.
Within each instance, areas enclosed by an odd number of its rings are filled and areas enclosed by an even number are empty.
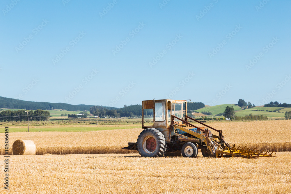
<svg viewBox="0 0 291 194"><path fill-rule="evenodd" d="M16 140L12 145L13 155L35 155L36 145L31 140Z"/></svg>

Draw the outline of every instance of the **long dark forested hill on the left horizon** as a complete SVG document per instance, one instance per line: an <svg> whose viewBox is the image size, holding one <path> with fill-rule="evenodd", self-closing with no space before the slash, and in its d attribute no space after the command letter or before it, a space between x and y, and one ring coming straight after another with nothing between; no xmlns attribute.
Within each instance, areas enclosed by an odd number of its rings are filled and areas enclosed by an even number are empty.
<svg viewBox="0 0 291 194"><path fill-rule="evenodd" d="M0 97L0 108L18 108L25 110L51 110L53 109L63 109L67 111L85 111L90 110L90 107L93 105L72 105L66 103L50 103L50 102L31 102L25 100L17 100L13 98ZM118 109L115 107L104 107L109 110Z"/></svg>

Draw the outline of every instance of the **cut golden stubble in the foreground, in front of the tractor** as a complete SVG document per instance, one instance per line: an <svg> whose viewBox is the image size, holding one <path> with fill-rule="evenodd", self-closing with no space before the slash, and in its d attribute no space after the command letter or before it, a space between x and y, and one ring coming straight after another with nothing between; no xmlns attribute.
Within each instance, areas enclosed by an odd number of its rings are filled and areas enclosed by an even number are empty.
<svg viewBox="0 0 291 194"><path fill-rule="evenodd" d="M291 152L260 159L205 158L201 153L197 158L10 156L9 180L9 193L17 194L290 193Z"/></svg>

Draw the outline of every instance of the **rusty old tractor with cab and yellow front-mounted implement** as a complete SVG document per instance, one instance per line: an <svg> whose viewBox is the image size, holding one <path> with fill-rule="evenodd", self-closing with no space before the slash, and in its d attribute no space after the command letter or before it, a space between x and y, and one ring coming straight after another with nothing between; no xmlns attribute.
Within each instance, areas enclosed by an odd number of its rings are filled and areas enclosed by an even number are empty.
<svg viewBox="0 0 291 194"><path fill-rule="evenodd" d="M137 150L144 157L204 157L259 158L276 156L275 152L235 147L226 143L221 130L214 129L187 116L188 100L142 101L142 128L136 143L122 149ZM203 127L196 127L194 124ZM217 135L212 134L212 129Z"/></svg>

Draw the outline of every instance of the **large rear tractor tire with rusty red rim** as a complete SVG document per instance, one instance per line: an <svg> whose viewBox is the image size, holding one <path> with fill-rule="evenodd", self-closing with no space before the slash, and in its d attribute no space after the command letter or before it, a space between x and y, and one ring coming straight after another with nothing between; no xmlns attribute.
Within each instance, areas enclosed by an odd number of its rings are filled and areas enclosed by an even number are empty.
<svg viewBox="0 0 291 194"><path fill-rule="evenodd" d="M144 129L137 138L137 150L144 157L164 156L166 152L164 135L155 128Z"/></svg>

